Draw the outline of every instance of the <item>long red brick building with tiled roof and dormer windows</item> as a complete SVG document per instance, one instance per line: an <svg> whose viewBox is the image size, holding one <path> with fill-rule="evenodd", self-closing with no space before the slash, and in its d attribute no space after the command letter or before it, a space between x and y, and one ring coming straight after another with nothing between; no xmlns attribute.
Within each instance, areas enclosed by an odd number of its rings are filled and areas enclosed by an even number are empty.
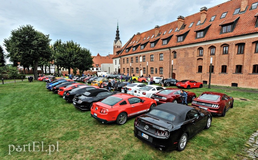
<svg viewBox="0 0 258 160"><path fill-rule="evenodd" d="M121 73L258 88L258 1L231 0L143 33L119 50Z"/></svg>

